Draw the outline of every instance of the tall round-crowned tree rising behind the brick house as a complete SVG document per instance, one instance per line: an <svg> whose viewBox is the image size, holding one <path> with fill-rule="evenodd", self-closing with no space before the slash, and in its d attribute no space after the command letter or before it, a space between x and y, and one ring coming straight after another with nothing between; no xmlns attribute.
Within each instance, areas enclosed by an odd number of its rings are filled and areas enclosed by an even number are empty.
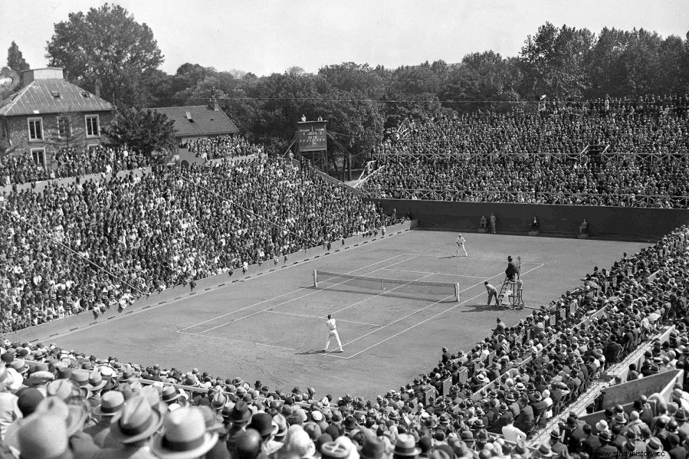
<svg viewBox="0 0 689 459"><path fill-rule="evenodd" d="M122 106L147 102L143 75L163 62L150 27L108 3L55 24L46 51L49 65L63 67L67 79L87 88L100 80L102 97Z"/></svg>

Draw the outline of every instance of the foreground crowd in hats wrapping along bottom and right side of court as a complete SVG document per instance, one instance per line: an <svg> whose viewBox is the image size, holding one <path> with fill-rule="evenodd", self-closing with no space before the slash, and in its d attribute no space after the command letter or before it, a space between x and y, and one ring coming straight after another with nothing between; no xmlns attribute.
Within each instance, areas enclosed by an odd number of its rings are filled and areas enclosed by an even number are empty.
<svg viewBox="0 0 689 459"><path fill-rule="evenodd" d="M684 459L687 378L669 401L640 394L632 411L606 407L606 419L594 426L569 413L535 451L524 437L532 424L564 410L587 382L661 323L674 323L676 330L668 341L654 342L629 379L686 368L688 239L689 228L683 227L624 257L610 271L594 269L578 291L521 322L523 330L498 321L485 344L468 355L445 352L433 374L375 401L317 394L313 387L282 392L260 381L251 385L198 369L183 373L123 364L115 357L99 360L54 345L4 341L0 401L9 408L0 411L0 450L5 457L37 459L567 459L663 452ZM534 325L548 323L546 315L570 303L576 307L554 328ZM592 315L601 308L607 314ZM588 321L571 327L571 320L586 316ZM479 364L466 385L418 403L425 386L459 369L465 357L485 362L485 345L496 351L496 365ZM532 360L525 364L521 359L529 354Z"/></svg>

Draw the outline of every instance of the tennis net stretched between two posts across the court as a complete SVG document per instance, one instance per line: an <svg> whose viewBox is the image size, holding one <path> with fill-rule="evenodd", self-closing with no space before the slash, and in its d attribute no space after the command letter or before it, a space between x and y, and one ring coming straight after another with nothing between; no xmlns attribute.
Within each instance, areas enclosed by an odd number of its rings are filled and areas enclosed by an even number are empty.
<svg viewBox="0 0 689 459"><path fill-rule="evenodd" d="M430 282L427 280L386 279L329 271L313 270L313 287L329 290L377 293L379 295L402 296L438 300L459 301L459 283Z"/></svg>

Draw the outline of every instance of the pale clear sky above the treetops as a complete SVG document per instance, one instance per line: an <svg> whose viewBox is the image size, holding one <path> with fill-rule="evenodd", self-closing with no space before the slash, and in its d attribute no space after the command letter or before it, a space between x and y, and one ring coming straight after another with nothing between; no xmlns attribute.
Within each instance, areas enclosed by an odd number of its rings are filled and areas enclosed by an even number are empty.
<svg viewBox="0 0 689 459"><path fill-rule="evenodd" d="M86 0L0 0L0 66L14 40L32 68L46 65L54 24L101 6ZM170 74L190 62L258 75L292 66L457 63L475 51L516 56L546 21L599 32L644 28L686 37L685 0L121 0L148 24Z"/></svg>

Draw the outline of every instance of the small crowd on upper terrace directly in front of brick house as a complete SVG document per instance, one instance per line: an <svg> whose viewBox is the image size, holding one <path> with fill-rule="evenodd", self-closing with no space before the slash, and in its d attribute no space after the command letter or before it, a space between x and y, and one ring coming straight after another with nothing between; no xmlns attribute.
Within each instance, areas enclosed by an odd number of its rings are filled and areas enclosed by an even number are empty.
<svg viewBox="0 0 689 459"><path fill-rule="evenodd" d="M85 150L63 148L56 152L53 160L46 160L48 165L35 163L33 156L26 153L0 157L0 186L149 166L143 154L102 146Z"/></svg>

